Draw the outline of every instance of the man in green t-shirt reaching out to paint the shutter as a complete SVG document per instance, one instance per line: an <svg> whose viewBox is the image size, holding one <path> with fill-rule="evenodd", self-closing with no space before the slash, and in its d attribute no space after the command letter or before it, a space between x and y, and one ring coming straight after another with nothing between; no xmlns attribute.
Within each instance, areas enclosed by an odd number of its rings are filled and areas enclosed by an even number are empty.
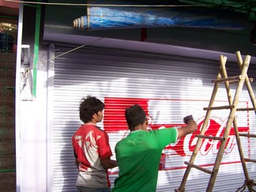
<svg viewBox="0 0 256 192"><path fill-rule="evenodd" d="M126 109L126 122L130 134L115 145L119 177L112 192L156 191L160 156L163 149L178 138L198 130L192 115L184 119L186 126L175 129L147 131L145 111L139 105Z"/></svg>

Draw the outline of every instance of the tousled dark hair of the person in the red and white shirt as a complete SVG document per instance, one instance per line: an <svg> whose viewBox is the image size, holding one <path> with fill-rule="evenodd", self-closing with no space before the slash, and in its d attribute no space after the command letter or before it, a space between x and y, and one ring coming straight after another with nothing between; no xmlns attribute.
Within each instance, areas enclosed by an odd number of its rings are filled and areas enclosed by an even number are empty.
<svg viewBox="0 0 256 192"><path fill-rule="evenodd" d="M104 103L95 96L87 96L81 99L79 113L82 122L92 120L92 115L104 110Z"/></svg>

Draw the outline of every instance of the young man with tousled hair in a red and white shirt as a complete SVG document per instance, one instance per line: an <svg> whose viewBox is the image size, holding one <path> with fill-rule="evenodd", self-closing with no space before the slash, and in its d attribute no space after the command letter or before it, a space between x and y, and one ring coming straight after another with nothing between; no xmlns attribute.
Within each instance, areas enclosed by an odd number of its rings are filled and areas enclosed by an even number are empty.
<svg viewBox="0 0 256 192"><path fill-rule="evenodd" d="M117 164L115 160L111 160L107 133L96 126L103 119L103 110L104 104L95 96L83 98L79 107L80 119L84 124L72 138L79 192L110 191L107 169L115 168Z"/></svg>

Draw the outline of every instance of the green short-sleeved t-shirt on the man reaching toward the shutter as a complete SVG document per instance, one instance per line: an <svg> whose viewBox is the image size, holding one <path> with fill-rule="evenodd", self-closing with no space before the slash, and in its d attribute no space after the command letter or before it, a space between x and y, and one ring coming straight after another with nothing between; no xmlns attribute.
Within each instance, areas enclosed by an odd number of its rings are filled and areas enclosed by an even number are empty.
<svg viewBox="0 0 256 192"><path fill-rule="evenodd" d="M112 192L156 191L160 156L163 149L177 141L175 128L136 130L115 145L119 177Z"/></svg>

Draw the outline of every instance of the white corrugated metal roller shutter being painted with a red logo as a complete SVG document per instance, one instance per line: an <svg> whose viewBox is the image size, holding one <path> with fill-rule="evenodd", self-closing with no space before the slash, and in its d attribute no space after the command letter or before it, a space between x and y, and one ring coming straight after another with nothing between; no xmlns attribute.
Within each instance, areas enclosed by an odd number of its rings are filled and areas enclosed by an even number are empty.
<svg viewBox="0 0 256 192"><path fill-rule="evenodd" d="M145 107L152 129L183 126L183 116L190 114L194 115L198 125L204 119L205 111L202 108L209 104L213 91L211 80L216 78L220 66L218 61L96 47L62 55L72 49L57 46L58 52L55 53L52 136L54 191L76 191L77 170L71 137L81 124L78 105L83 96L97 96L106 104L104 121L99 126L107 130L113 153L116 142L128 134L122 112L130 104ZM239 71L237 63L228 62L227 68L228 76ZM255 77L255 70L255 66L249 67L250 77ZM235 85L232 86L234 92ZM253 88L256 90L255 85ZM223 105L227 102L226 90L224 87L219 90L217 98L220 99L216 100L216 105ZM239 105L250 105L247 90L243 90ZM213 112L212 130L209 133L220 135L227 116L228 111ZM237 116L239 129L255 134L254 112L237 112ZM251 159L256 159L255 142L253 138L242 139L244 154ZM194 145L193 136L187 136L164 150L165 167L159 171L157 191L173 191L179 187L186 168L183 162L190 160ZM218 145L213 141L203 142L195 163L211 168ZM243 185L244 176L234 133L229 137L222 162L214 191L235 191ZM255 165L248 163L247 168L251 179L254 179ZM110 170L110 174L113 185L118 169ZM186 183L186 190L205 191L208 181L209 175L193 170Z"/></svg>

